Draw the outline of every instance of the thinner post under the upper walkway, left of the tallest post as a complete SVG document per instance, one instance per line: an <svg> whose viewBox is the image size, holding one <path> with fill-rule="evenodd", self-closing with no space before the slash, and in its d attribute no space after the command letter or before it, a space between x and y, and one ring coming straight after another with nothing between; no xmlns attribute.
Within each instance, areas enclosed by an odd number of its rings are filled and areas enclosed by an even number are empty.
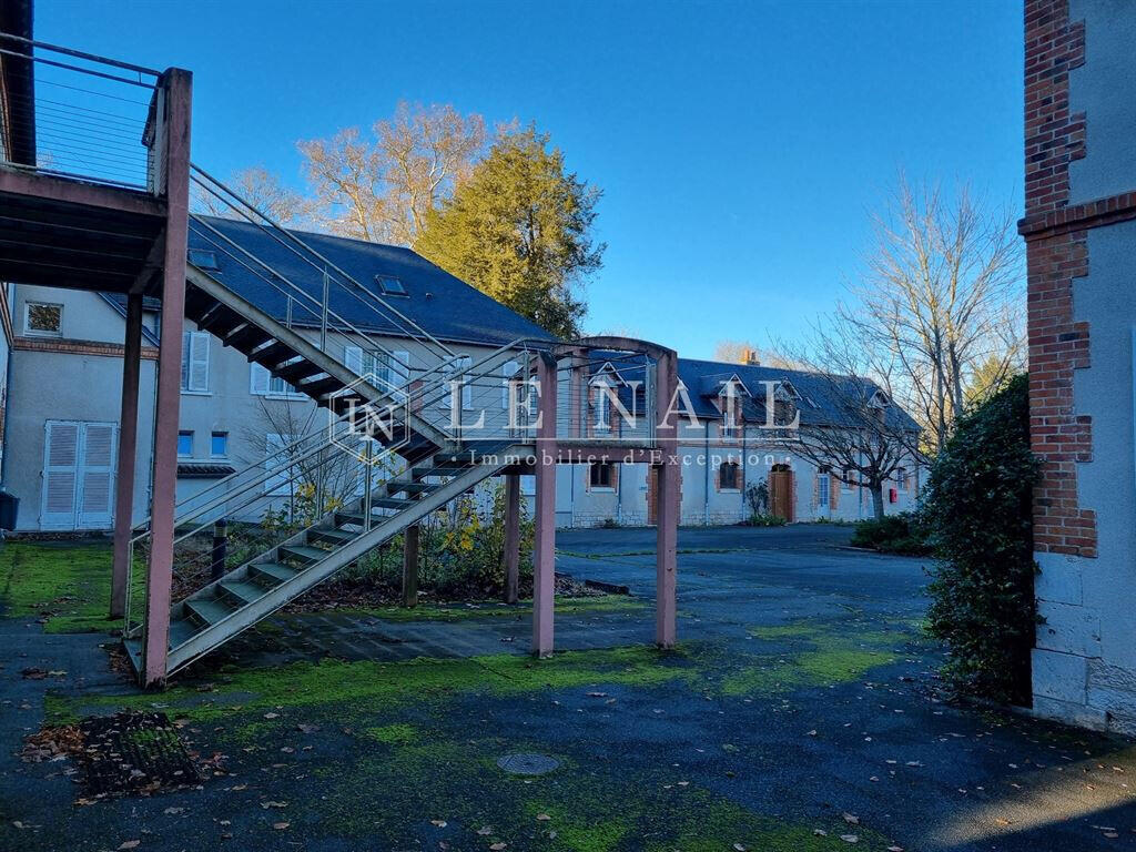
<svg viewBox="0 0 1136 852"><path fill-rule="evenodd" d="M142 294L126 296L123 351L123 401L118 418L118 469L115 483L115 556L110 573L110 617L126 612L131 523L134 512L134 462L139 437L139 376L142 371Z"/></svg>

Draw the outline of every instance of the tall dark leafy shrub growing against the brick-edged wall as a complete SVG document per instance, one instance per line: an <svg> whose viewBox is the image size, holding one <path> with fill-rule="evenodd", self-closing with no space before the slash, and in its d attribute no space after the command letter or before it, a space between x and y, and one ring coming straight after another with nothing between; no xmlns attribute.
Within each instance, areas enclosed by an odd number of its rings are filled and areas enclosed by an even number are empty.
<svg viewBox="0 0 1136 852"><path fill-rule="evenodd" d="M947 644L944 675L960 692L1029 701L1037 473L1025 375L962 416L930 469L930 632Z"/></svg>

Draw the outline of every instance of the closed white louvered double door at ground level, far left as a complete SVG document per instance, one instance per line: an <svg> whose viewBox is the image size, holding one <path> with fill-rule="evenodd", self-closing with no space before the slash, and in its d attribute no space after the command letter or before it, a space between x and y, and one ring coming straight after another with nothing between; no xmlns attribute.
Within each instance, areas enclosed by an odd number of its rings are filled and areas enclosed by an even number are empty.
<svg viewBox="0 0 1136 852"><path fill-rule="evenodd" d="M112 423L48 420L43 440L44 529L105 529L115 496Z"/></svg>

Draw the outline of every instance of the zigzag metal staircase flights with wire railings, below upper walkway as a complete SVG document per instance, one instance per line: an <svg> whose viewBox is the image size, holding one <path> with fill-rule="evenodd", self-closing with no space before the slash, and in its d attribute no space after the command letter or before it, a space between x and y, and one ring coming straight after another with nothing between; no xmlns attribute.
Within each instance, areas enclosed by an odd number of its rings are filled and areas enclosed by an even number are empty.
<svg viewBox="0 0 1136 852"><path fill-rule="evenodd" d="M174 574L200 585L170 609L167 677L532 451L531 437L501 429L495 438L491 431L479 433L477 442L463 441L452 414L457 408L460 418L460 411L470 407L473 400L462 401L463 394L483 395L478 407L500 410L502 367L517 366L513 381L525 379L533 357L525 341L476 362L454 356L296 234L278 227L206 173L194 172L202 187L223 198L261 240L282 247L291 262L289 272L282 272L234 240L216 219L192 217L197 244L240 264L277 296L277 303L284 300L287 310L282 321L251 303L225 283L219 268L193 264L191 251L185 316L286 382L290 393L327 409L328 416L326 427L296 437L178 504ZM296 268L308 275L298 275ZM319 285L312 286L314 281ZM344 310L344 303L351 310ZM384 344L392 333L406 341L402 345L414 345L415 370L398 365ZM368 352L371 365L395 369L376 376L348 366L351 349ZM385 411L387 431L359 432L349 412L362 404ZM344 477L350 496L343 496ZM335 498L325 485L333 478L340 484ZM295 511L294 499L284 501L291 508L277 509L281 499L267 487L269 483L308 487L315 495L309 493L307 512ZM284 511L285 523L269 525L266 518L274 511ZM218 567L216 553L203 546L218 521L239 528L257 545L256 554L235 566L222 560ZM148 546L147 527L132 542L132 569L134 554ZM203 563L211 570L203 573ZM144 626L133 604L144 599L145 590L136 579L127 590L124 643L141 673Z"/></svg>

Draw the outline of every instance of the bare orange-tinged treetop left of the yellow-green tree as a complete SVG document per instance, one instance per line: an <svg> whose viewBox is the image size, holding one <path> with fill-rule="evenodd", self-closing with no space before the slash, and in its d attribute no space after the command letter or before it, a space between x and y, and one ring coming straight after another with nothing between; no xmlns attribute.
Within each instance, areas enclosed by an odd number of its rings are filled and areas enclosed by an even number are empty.
<svg viewBox="0 0 1136 852"><path fill-rule="evenodd" d="M485 119L452 106L400 102L371 134L358 127L298 143L315 216L333 233L410 245L485 150Z"/></svg>

